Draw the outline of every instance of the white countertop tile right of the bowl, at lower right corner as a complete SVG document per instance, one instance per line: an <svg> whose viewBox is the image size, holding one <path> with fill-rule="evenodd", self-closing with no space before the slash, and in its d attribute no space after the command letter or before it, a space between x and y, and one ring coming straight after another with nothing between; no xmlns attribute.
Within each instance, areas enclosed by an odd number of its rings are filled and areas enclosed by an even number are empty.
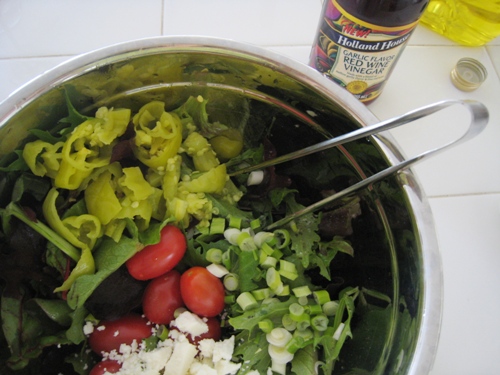
<svg viewBox="0 0 500 375"><path fill-rule="evenodd" d="M500 373L500 194L430 199L443 259L444 311L431 375Z"/></svg>

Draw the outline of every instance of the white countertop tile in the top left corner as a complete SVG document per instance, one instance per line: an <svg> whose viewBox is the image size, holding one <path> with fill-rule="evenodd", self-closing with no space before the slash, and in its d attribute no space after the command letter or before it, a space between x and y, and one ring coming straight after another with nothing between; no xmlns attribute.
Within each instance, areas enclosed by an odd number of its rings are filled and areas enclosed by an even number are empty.
<svg viewBox="0 0 500 375"><path fill-rule="evenodd" d="M161 34L161 0L2 0L0 58L71 55Z"/></svg>

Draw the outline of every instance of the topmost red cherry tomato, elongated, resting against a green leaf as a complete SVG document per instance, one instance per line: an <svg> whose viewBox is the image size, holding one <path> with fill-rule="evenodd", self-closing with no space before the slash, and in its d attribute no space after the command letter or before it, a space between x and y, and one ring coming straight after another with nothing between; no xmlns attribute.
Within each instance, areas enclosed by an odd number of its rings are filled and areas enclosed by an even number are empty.
<svg viewBox="0 0 500 375"><path fill-rule="evenodd" d="M130 258L126 265L137 280L149 280L172 270L186 252L186 238L174 225L166 225L160 234L160 242L146 246Z"/></svg>

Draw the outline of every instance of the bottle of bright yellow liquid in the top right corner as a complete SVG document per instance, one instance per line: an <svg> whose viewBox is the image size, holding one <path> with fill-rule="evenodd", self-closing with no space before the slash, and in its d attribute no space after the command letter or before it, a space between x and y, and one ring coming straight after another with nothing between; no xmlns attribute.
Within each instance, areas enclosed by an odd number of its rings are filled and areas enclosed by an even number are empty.
<svg viewBox="0 0 500 375"><path fill-rule="evenodd" d="M431 0L420 23L465 46L500 35L500 0Z"/></svg>

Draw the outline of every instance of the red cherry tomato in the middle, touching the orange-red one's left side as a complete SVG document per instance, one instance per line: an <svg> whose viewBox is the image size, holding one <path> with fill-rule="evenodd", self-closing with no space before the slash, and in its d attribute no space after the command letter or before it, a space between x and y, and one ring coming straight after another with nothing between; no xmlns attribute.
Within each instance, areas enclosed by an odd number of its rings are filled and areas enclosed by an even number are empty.
<svg viewBox="0 0 500 375"><path fill-rule="evenodd" d="M151 280L144 291L142 309L144 315L156 324L169 324L174 312L183 307L181 274L172 270Z"/></svg>

